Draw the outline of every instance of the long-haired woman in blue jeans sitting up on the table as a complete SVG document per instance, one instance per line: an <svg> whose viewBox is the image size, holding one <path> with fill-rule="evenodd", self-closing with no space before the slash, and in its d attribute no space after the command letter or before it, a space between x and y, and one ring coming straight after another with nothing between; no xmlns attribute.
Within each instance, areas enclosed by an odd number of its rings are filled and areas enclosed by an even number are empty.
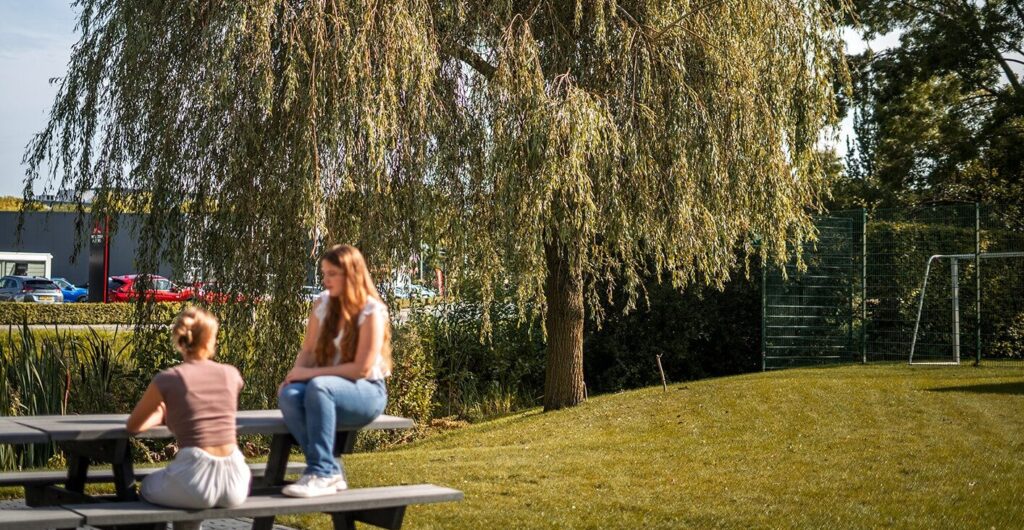
<svg viewBox="0 0 1024 530"><path fill-rule="evenodd" d="M339 425L362 427L387 404L391 374L387 306L355 247L336 245L321 256L326 291L313 301L295 366L278 394L288 430L306 456L306 470L283 492L328 495L348 487L334 457Z"/></svg>

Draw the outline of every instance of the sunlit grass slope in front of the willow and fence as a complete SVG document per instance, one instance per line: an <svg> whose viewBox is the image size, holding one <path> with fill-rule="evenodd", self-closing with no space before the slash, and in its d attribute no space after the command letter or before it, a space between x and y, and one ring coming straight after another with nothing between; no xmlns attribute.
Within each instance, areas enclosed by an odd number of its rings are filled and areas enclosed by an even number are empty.
<svg viewBox="0 0 1024 530"><path fill-rule="evenodd" d="M410 509L409 528L1020 528L1024 369L706 380L530 410L346 466L353 487L465 492Z"/></svg>

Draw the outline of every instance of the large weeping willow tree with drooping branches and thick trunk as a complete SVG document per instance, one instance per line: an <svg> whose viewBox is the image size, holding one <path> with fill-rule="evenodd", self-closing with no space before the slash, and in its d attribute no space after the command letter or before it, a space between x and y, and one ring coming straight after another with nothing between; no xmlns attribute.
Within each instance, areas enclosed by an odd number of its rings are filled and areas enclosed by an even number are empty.
<svg viewBox="0 0 1024 530"><path fill-rule="evenodd" d="M26 194L45 178L102 190L92 215L143 212L140 266L264 291L256 341L286 362L316 241L377 270L429 241L456 286L489 303L510 284L545 322L552 409L584 397L602 298L633 307L651 274L721 283L813 236L835 1L78 7Z"/></svg>

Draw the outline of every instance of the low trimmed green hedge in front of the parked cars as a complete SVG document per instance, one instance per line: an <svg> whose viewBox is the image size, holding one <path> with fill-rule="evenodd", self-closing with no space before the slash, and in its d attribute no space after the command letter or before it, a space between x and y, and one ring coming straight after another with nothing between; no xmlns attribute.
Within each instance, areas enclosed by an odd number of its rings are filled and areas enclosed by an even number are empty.
<svg viewBox="0 0 1024 530"><path fill-rule="evenodd" d="M170 322L181 304L157 304L154 321ZM130 324L135 304L27 304L0 303L0 325L28 324Z"/></svg>

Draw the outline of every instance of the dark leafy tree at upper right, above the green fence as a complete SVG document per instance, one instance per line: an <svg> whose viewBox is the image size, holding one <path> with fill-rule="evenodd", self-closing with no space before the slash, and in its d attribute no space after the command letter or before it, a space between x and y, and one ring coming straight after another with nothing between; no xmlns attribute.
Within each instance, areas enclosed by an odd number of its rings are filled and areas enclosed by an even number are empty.
<svg viewBox="0 0 1024 530"><path fill-rule="evenodd" d="M840 195L896 206L1024 206L1024 2L858 0L866 38L897 46L851 58L856 142Z"/></svg>

